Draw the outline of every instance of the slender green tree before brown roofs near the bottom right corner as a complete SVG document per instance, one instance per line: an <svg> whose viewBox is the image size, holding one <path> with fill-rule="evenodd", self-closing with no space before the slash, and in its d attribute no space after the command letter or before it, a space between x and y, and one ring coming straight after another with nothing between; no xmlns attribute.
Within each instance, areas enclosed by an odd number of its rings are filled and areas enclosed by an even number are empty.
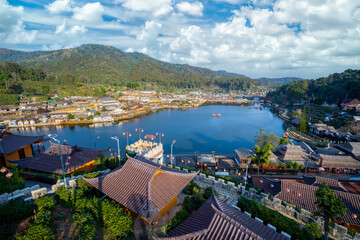
<svg viewBox="0 0 360 240"><path fill-rule="evenodd" d="M333 190L330 190L326 183L320 185L315 192L318 211L316 214L324 218L325 240L328 239L328 232L332 228L330 220L335 221L347 211L345 204L340 197L337 197Z"/></svg>

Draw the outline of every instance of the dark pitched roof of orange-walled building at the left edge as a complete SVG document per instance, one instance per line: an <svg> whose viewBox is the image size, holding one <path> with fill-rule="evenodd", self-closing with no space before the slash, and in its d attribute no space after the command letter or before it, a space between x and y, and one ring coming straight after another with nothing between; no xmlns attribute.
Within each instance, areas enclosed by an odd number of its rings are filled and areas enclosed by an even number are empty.
<svg viewBox="0 0 360 240"><path fill-rule="evenodd" d="M41 140L44 136L22 136L3 129L0 134L0 155L6 155L29 144Z"/></svg>

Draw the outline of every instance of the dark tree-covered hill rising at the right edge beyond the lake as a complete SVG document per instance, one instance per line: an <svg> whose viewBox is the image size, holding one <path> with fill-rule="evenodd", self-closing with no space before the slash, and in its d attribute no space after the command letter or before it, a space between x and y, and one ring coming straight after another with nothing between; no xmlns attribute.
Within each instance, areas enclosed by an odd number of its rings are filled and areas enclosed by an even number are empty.
<svg viewBox="0 0 360 240"><path fill-rule="evenodd" d="M344 99L360 99L360 70L348 69L316 80L294 81L270 92L267 98L274 102L310 99L317 104L338 104Z"/></svg>

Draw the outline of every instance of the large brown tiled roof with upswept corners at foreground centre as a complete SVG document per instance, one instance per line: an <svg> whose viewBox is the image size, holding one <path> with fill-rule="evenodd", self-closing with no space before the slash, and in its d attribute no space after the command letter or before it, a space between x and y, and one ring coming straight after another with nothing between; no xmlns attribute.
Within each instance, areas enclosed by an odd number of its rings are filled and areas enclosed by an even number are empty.
<svg viewBox="0 0 360 240"><path fill-rule="evenodd" d="M196 174L128 156L122 168L84 180L124 207L142 215L149 207L155 212L163 209Z"/></svg>

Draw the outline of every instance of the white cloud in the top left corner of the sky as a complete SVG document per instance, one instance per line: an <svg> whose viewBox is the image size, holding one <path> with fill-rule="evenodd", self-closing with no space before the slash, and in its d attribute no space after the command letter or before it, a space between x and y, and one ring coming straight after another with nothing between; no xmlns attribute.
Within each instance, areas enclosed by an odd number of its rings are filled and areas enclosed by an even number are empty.
<svg viewBox="0 0 360 240"><path fill-rule="evenodd" d="M13 7L6 0L0 0L0 41L9 44L31 43L38 31L27 31L21 20L23 7Z"/></svg>

